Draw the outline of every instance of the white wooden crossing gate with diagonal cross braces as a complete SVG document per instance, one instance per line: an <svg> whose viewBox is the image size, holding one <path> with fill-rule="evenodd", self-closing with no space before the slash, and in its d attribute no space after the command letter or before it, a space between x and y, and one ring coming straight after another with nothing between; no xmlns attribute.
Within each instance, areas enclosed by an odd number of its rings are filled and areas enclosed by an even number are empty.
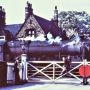
<svg viewBox="0 0 90 90"><path fill-rule="evenodd" d="M61 78L73 77L82 82L82 78L79 75L79 67L83 65L83 62L72 62L72 68L60 75L63 67L63 61L28 61L27 63L27 78L29 81L58 81ZM87 62L90 66L90 62Z"/></svg>

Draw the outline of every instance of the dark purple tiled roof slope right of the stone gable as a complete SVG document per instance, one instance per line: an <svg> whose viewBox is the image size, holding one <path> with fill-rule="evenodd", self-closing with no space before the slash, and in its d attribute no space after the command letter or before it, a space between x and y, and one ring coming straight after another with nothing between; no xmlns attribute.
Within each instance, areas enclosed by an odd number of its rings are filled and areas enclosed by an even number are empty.
<svg viewBox="0 0 90 90"><path fill-rule="evenodd" d="M51 32L54 37L61 35L61 29L57 27L52 21L46 20L42 17L34 15L41 28L44 30L45 34Z"/></svg>

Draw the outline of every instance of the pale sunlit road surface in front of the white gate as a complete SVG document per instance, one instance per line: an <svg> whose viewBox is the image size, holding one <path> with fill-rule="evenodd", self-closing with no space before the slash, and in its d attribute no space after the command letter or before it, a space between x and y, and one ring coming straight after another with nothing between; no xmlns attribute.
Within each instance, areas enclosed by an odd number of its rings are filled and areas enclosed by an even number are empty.
<svg viewBox="0 0 90 90"><path fill-rule="evenodd" d="M90 90L89 85L82 85L78 81L62 80L56 83L26 83L23 85L12 85L1 87L0 90Z"/></svg>

